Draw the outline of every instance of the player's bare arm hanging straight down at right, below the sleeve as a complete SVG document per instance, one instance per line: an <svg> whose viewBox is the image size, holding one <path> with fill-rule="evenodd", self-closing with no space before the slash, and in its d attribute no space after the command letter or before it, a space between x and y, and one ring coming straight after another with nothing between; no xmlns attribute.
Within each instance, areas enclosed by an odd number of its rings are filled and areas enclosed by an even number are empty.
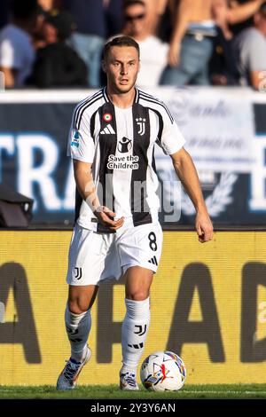
<svg viewBox="0 0 266 417"><path fill-rule="evenodd" d="M202 195L200 180L191 155L182 148L171 155L176 175L188 193L196 209L195 226L200 242L212 240L213 225L207 213L207 207Z"/></svg>

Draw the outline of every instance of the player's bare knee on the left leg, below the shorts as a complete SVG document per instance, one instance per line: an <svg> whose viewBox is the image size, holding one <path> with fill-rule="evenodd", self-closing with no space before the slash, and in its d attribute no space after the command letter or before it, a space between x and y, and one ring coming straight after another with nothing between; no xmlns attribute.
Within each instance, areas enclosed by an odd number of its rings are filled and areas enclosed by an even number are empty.
<svg viewBox="0 0 266 417"><path fill-rule="evenodd" d="M68 309L74 314L88 311L98 294L98 286L72 286L68 287Z"/></svg>

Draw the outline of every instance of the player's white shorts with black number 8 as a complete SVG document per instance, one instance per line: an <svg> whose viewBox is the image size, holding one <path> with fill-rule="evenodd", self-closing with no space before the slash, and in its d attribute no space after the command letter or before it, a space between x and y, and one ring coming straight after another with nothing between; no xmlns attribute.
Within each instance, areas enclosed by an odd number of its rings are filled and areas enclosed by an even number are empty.
<svg viewBox="0 0 266 417"><path fill-rule="evenodd" d="M159 222L137 227L123 224L116 233L93 232L75 224L66 282L72 286L99 285L106 279L120 279L130 266L156 272L161 247Z"/></svg>

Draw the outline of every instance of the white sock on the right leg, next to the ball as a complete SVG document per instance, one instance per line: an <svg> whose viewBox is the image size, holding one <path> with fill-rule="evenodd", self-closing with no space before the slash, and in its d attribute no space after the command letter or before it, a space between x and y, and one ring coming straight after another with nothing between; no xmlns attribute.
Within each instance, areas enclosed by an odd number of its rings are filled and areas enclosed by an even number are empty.
<svg viewBox="0 0 266 417"><path fill-rule="evenodd" d="M137 373L137 364L144 350L150 325L150 298L144 301L125 300L127 313L121 327L121 372Z"/></svg>

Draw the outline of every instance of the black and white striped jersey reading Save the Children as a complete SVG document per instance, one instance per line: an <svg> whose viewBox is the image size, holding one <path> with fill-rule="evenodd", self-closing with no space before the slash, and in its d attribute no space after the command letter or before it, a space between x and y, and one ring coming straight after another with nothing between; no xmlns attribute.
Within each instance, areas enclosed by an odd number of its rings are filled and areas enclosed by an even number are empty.
<svg viewBox="0 0 266 417"><path fill-rule="evenodd" d="M184 146L184 137L167 106L136 89L133 106L118 108L104 88L75 107L67 154L92 163L101 205L137 226L158 220L155 143L167 154ZM106 232L78 192L75 221L84 228Z"/></svg>

